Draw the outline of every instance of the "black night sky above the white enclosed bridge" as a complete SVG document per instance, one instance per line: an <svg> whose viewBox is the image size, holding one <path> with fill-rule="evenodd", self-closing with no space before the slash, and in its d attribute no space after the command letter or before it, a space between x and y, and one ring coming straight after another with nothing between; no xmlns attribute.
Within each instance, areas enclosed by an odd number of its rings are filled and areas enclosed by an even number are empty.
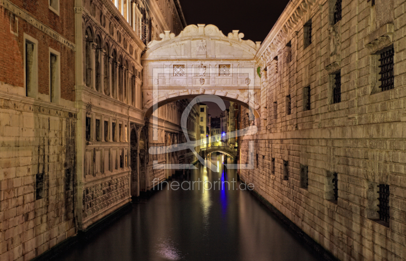
<svg viewBox="0 0 406 261"><path fill-rule="evenodd" d="M187 24L214 24L223 34L244 33L245 40L263 41L289 0L179 0Z"/></svg>

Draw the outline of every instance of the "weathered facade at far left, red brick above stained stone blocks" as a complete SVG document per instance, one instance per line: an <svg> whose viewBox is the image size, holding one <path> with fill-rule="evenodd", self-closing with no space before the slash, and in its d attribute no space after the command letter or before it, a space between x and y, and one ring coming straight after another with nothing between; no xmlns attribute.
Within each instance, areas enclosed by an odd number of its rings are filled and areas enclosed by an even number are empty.
<svg viewBox="0 0 406 261"><path fill-rule="evenodd" d="M0 2L0 259L29 260L77 232L74 1ZM38 94L25 96L24 41L36 40ZM49 48L60 53L50 103Z"/></svg>

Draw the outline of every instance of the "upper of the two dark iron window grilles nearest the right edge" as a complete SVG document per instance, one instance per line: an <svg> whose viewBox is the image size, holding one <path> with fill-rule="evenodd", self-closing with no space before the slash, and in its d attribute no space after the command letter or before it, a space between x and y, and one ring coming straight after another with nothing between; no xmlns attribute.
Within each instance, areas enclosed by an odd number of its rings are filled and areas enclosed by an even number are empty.
<svg viewBox="0 0 406 261"><path fill-rule="evenodd" d="M381 59L379 59L379 61L381 62L381 65L379 66L379 68L381 68L381 72L379 73L381 75L381 78L379 80L381 81L380 88L382 89L382 91L387 91L394 88L394 76L393 76L394 54L395 51L392 47L391 49L382 52Z"/></svg>

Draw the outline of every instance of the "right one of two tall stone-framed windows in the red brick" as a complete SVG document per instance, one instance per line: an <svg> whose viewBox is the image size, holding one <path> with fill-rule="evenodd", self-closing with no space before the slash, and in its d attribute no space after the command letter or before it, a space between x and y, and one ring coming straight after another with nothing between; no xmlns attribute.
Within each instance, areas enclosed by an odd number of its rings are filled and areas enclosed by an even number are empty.
<svg viewBox="0 0 406 261"><path fill-rule="evenodd" d="M49 100L58 104L60 99L59 53L51 48L49 51Z"/></svg>

